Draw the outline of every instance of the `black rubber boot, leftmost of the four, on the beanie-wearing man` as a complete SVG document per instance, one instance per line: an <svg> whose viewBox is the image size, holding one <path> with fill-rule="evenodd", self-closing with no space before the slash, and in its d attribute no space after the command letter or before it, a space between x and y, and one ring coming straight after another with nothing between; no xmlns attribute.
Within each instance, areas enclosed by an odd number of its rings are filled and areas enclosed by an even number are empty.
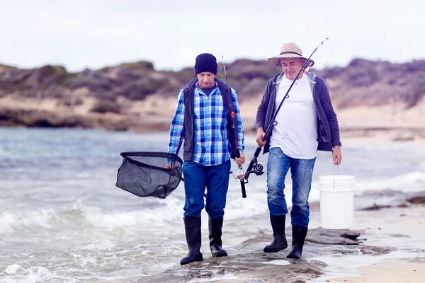
<svg viewBox="0 0 425 283"><path fill-rule="evenodd" d="M180 260L180 265L187 265L194 261L202 261L203 256L200 253L200 216L183 217L184 230L186 231L186 241L188 243L189 253L186 258Z"/></svg>

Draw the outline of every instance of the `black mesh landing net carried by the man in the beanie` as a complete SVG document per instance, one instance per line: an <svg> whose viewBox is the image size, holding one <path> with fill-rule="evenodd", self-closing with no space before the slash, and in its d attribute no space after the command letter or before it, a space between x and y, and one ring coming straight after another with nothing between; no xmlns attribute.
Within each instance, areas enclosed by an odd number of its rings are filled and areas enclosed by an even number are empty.
<svg viewBox="0 0 425 283"><path fill-rule="evenodd" d="M123 152L116 186L139 197L164 199L176 190L182 178L183 161L166 152ZM166 169L166 163L172 163Z"/></svg>

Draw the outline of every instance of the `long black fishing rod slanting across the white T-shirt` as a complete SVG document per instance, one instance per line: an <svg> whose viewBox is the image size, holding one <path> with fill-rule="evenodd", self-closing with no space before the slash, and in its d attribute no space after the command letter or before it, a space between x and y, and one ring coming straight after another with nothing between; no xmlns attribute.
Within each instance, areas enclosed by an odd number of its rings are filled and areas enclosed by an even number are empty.
<svg viewBox="0 0 425 283"><path fill-rule="evenodd" d="M274 113L273 117L271 117L272 122L270 123L270 125L268 125L266 132L264 133L264 136L261 139L262 141L267 141L270 138L273 127L278 125L278 121L276 121L276 117L278 115L280 108L283 105L283 101L285 101L286 98L289 98L288 93L289 93L290 89L293 87L295 81L297 81L298 76L300 76L301 71L302 71L302 76L307 75L308 71L310 70L310 67L312 67L312 62L310 62L310 58L312 57L314 52L317 51L317 48L319 48L320 45L323 45L323 42L325 40L329 40L329 38L326 37L326 39L322 40L322 42L320 42L320 44L317 45L317 47L313 50L312 54L310 54L310 56L307 58L307 60L305 60L304 63L302 64L300 71L298 71L297 76L295 76L295 79L290 84L288 91L286 91L285 96L283 96L282 101L280 101L280 104L279 104L278 108L276 109L276 112ZM307 62L310 62L310 65L304 70L304 68L307 66ZM248 183L248 178L249 178L249 175L251 173L255 173L256 175L262 175L264 173L263 166L261 164L259 164L258 161L257 161L257 158L259 157L260 152L261 152L261 147L258 146L256 151L254 152L254 157L251 159L251 162L249 162L248 168L246 168L246 173L244 175L244 183Z"/></svg>

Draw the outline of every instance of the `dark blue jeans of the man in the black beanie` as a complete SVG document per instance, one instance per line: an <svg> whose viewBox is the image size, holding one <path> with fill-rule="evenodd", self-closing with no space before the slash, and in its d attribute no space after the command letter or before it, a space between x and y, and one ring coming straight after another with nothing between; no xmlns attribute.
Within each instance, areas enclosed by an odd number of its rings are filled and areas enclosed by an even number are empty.
<svg viewBox="0 0 425 283"><path fill-rule="evenodd" d="M204 208L204 192L207 187L205 210L211 218L225 215L226 195L229 188L230 161L220 165L203 166L193 161L183 162L184 216L200 216Z"/></svg>

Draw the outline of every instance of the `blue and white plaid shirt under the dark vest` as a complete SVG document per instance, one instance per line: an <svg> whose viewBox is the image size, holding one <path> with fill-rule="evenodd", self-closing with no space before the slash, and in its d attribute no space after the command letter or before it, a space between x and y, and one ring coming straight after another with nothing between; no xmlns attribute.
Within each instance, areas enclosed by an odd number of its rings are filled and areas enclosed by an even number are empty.
<svg viewBox="0 0 425 283"><path fill-rule="evenodd" d="M230 158L232 146L227 138L227 110L220 93L220 88L216 83L215 90L210 96L203 93L202 88L196 83L193 90L193 161L204 166L219 165L225 163ZM181 142L184 137L184 93L179 91L177 107L171 122L168 152L178 154ZM244 151L244 127L242 126L239 105L237 103L236 92L232 88L232 101L234 114L237 117L238 147L239 151Z"/></svg>

